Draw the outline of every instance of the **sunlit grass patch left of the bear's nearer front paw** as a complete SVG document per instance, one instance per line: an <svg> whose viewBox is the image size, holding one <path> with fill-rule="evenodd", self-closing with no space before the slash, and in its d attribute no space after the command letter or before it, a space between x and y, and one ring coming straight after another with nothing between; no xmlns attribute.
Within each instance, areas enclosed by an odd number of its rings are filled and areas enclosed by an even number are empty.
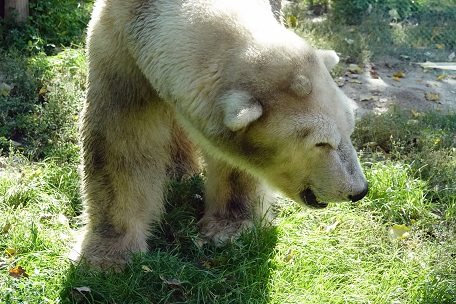
<svg viewBox="0 0 456 304"><path fill-rule="evenodd" d="M69 267L66 253L78 200L75 168L50 160L31 164L19 156L5 162L0 175L0 303L55 303ZM9 275L18 266L28 278Z"/></svg>

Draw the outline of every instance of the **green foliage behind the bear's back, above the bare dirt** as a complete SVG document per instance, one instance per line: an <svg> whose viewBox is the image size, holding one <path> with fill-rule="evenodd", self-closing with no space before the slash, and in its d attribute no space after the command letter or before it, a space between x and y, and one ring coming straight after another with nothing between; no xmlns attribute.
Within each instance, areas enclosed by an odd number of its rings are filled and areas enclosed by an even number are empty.
<svg viewBox="0 0 456 304"><path fill-rule="evenodd" d="M407 55L412 61L447 61L456 47L451 0L300 1L287 6L287 25L318 47L331 47L348 63ZM320 16L321 9L327 7Z"/></svg>

